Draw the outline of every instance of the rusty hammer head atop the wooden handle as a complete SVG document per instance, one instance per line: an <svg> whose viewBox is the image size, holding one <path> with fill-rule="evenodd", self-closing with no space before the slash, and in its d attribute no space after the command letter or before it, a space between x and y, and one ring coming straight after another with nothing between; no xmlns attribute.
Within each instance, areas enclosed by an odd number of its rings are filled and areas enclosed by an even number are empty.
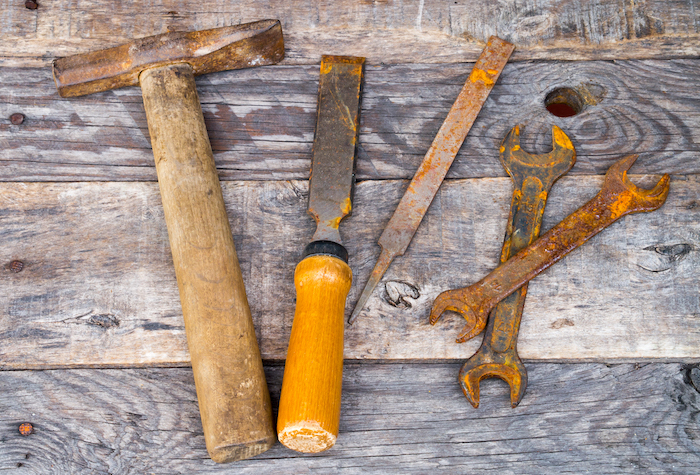
<svg viewBox="0 0 700 475"><path fill-rule="evenodd" d="M274 64L284 58L278 20L192 32L172 32L115 48L60 58L53 76L61 97L83 96L139 84L145 69L188 63L195 76Z"/></svg>

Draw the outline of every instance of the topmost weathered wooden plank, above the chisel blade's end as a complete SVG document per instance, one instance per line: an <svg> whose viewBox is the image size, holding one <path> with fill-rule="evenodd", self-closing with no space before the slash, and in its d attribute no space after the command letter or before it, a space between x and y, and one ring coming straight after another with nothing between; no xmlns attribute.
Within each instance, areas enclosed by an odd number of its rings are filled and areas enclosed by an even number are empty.
<svg viewBox="0 0 700 475"><path fill-rule="evenodd" d="M0 1L0 65L46 65L57 56L107 48L169 30L206 29L262 18L282 21L287 62L320 53L370 63L474 59L490 35L514 42L514 60L697 57L696 0L483 2L343 0L286 2L165 0L105 4L57 0L28 10Z"/></svg>

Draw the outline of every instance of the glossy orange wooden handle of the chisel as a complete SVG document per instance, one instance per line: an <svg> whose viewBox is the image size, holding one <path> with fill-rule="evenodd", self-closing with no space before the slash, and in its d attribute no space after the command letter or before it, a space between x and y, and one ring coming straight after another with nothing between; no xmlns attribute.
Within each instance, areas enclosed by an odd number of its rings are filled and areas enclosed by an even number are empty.
<svg viewBox="0 0 700 475"><path fill-rule="evenodd" d="M294 273L297 305L282 381L277 436L286 447L331 448L340 424L345 299L352 271L328 254L303 259Z"/></svg>

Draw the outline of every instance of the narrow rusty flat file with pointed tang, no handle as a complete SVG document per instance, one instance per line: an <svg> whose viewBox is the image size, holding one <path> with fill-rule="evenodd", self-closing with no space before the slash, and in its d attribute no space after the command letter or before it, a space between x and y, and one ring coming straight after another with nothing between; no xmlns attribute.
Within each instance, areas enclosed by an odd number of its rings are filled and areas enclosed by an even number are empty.
<svg viewBox="0 0 700 475"><path fill-rule="evenodd" d="M492 36L464 83L457 100L438 130L394 215L379 238L382 252L348 321L352 324L396 256L402 256L413 239L435 193L464 143L479 111L515 49Z"/></svg>

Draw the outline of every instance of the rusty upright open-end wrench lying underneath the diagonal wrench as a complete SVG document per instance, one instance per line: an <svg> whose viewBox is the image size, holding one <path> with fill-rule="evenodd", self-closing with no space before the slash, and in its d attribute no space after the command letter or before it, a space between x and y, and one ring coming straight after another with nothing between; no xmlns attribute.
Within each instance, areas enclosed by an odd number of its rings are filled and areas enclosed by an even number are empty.
<svg viewBox="0 0 700 475"><path fill-rule="evenodd" d="M552 127L552 151L532 155L520 148L520 127L514 127L501 143L501 163L513 180L513 197L501 263L527 247L540 234L549 190L576 162L569 137ZM501 300L489 315L484 341L459 372L462 391L479 407L479 382L501 378L510 386L510 402L516 407L525 394L527 371L516 349L527 284Z"/></svg>

